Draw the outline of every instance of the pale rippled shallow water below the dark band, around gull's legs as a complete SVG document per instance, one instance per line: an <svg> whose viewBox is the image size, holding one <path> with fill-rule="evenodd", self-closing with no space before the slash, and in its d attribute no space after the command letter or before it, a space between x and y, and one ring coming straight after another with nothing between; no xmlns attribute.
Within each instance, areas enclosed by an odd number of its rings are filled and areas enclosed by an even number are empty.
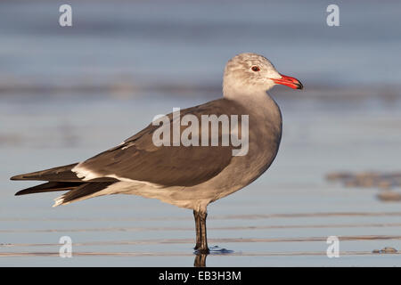
<svg viewBox="0 0 401 285"><path fill-rule="evenodd" d="M58 208L51 208L58 193L12 196L35 183L7 181L11 175L86 159L139 131L168 106L200 101L71 98L1 104L7 110L0 115L7 126L2 136L19 138L3 142L0 153L6 161L0 174L0 264L191 266L189 210L134 196ZM284 118L279 155L255 183L209 206L210 246L233 253L210 255L207 265L400 265L397 254L372 250L400 249L401 204L381 202L376 189L324 180L338 169L394 169L401 159L397 108L363 112L277 101ZM72 259L57 256L64 235L73 240ZM340 238L340 258L325 255L331 235Z"/></svg>

